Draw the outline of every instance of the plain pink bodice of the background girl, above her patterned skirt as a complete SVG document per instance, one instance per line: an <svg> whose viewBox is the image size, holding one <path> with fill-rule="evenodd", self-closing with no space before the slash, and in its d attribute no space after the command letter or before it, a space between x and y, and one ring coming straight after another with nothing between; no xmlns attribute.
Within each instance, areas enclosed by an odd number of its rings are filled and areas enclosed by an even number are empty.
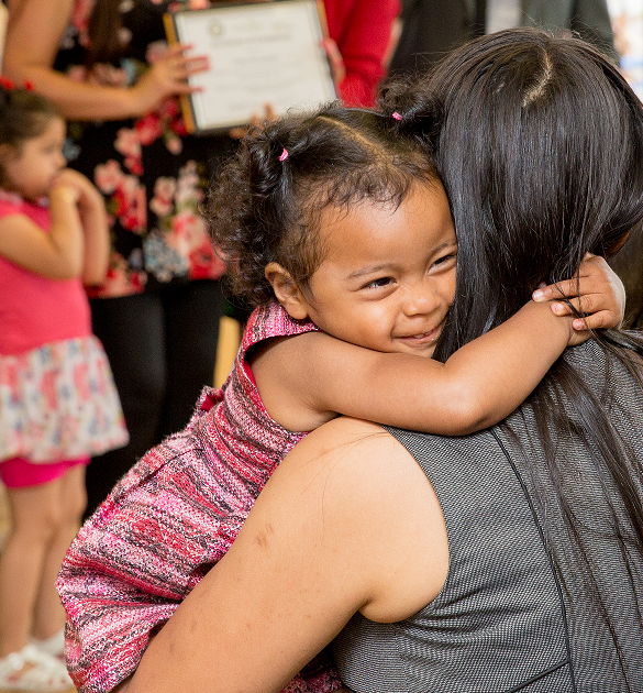
<svg viewBox="0 0 643 693"><path fill-rule="evenodd" d="M49 230L49 210L0 191L0 219L24 215ZM0 354L18 354L91 334L89 302L79 278L49 279L0 256Z"/></svg>

